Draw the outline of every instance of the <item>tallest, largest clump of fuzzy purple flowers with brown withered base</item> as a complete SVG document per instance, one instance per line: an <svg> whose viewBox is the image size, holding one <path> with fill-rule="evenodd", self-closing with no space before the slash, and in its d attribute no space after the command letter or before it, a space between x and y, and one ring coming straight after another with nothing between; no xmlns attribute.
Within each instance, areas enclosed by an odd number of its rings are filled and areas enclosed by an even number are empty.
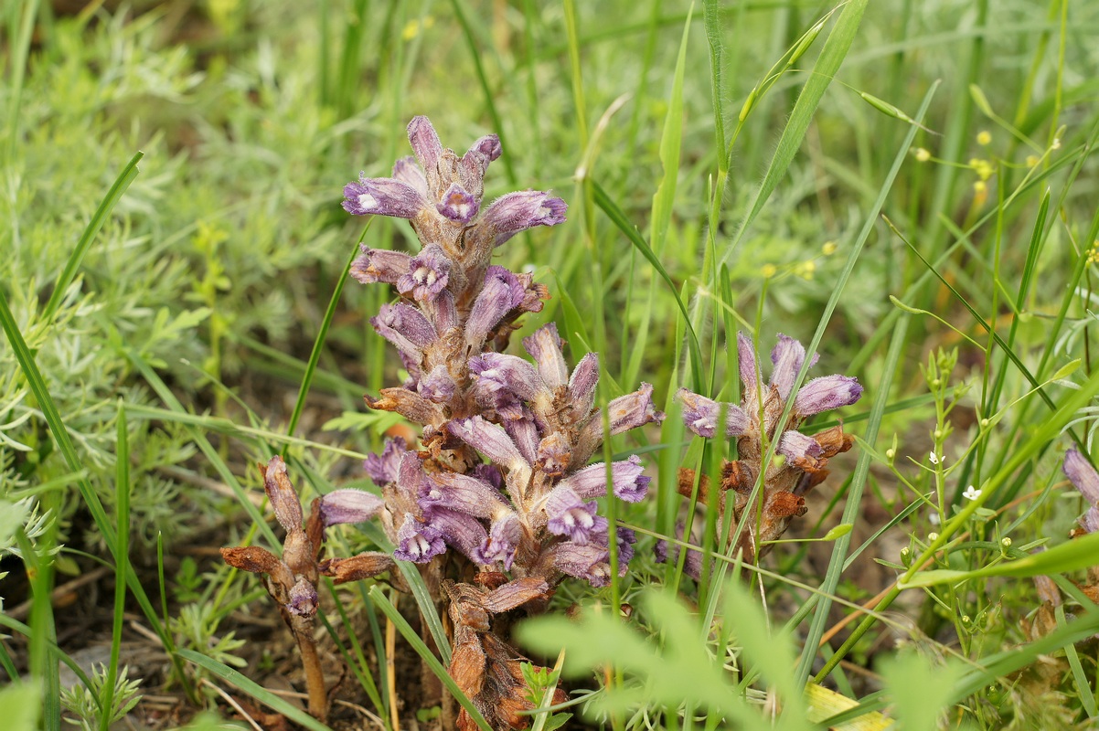
<svg viewBox="0 0 1099 731"><path fill-rule="evenodd" d="M533 362L503 352L519 317L540 312L548 291L530 273L490 263L492 251L519 232L565 221L565 202L528 190L482 209L485 171L501 151L496 135L459 157L418 116L409 140L415 158L398 160L391 178L360 176L344 188L343 203L355 215L407 218L422 244L417 254L364 246L352 266L359 282L392 284L400 294L370 324L397 347L409 378L367 396L367 404L422 425L419 449L393 438L364 465L382 488L380 517L393 555L459 582L476 570L490 589L459 583L448 596L507 595L501 582L524 582L515 595L528 608L544 606L564 575L602 586L612 571L624 574L634 536L624 529L613 536L619 565L612 567L612 537L596 498L607 494L608 474L610 492L629 502L644 497L650 479L636 457L609 468L588 464L604 437L595 407L596 353L570 372L553 324L523 339ZM652 393L643 384L613 400L610 434L663 419ZM489 601L486 622L470 631L488 632L489 614L515 606ZM466 637L454 662L482 665L485 653L469 649L487 646L496 645ZM518 653L497 655L488 661L518 663ZM471 676L466 666L452 664L451 672ZM512 672L518 665L497 674ZM493 728L524 726L515 711L529 705L503 697L501 687L478 684L469 691ZM464 711L457 722L474 728Z"/></svg>

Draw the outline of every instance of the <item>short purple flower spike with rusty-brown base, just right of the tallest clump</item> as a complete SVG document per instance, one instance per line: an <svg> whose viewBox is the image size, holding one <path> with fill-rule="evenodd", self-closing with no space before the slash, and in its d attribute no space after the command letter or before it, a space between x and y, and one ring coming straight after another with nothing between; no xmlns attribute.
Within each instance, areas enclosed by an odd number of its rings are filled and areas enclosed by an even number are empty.
<svg viewBox="0 0 1099 731"><path fill-rule="evenodd" d="M846 375L825 375L809 381L795 394L786 427L777 434L778 420L804 363L806 349L793 338L780 334L770 351L774 368L767 384L763 383L756 364L752 340L741 333L736 335L736 350L744 384L740 404L722 404L686 389L681 389L677 397L684 405L682 416L688 429L700 437L712 438L720 431L729 439L736 439L739 459L722 465L718 509L723 514L730 507L726 495L732 492L734 519L740 521L747 511L747 524L736 549L743 551L745 561L752 561L767 550L767 546L761 544L778 539L796 516L804 515L804 495L828 476L828 460L853 445L851 435L844 434L840 426L811 436L798 428L810 416L854 404L862 396L863 386ZM815 361L814 356L810 366ZM725 424L719 429L722 413ZM763 465L768 446L776 441L775 453L781 459ZM761 472L764 477L758 502L750 504ZM693 470L680 470L680 494L691 495L695 479ZM704 477L699 499L703 503L712 499L712 490ZM688 552L685 566L689 574L698 577L700 554Z"/></svg>

